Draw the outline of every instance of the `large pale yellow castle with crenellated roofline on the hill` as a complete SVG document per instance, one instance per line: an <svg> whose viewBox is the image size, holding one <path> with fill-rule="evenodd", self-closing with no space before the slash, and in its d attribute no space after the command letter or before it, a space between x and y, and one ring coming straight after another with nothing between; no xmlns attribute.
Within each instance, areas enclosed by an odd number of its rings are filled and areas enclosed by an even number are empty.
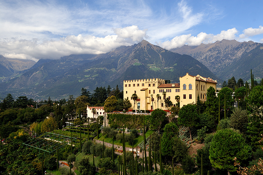
<svg viewBox="0 0 263 175"><path fill-rule="evenodd" d="M199 94L200 100L206 100L207 89L212 86L216 89L217 81L200 75L192 76L186 73L180 77L180 83L170 83L169 80L151 78L123 81L123 98L128 98L132 109L165 110L165 98L169 98L173 106L180 96L180 108L189 103L196 103ZM131 96L136 94L134 101ZM159 97L158 97L159 96ZM134 105L135 102L135 105Z"/></svg>

